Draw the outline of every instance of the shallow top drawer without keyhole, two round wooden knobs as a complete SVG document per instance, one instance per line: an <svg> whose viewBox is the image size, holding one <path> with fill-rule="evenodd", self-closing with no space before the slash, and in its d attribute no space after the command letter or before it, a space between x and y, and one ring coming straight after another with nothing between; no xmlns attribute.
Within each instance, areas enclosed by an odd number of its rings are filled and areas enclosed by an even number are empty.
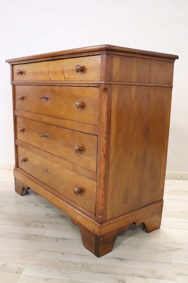
<svg viewBox="0 0 188 283"><path fill-rule="evenodd" d="M83 71L77 73L77 65L83 67ZM100 65L101 55L18 64L13 65L13 80L100 81Z"/></svg>

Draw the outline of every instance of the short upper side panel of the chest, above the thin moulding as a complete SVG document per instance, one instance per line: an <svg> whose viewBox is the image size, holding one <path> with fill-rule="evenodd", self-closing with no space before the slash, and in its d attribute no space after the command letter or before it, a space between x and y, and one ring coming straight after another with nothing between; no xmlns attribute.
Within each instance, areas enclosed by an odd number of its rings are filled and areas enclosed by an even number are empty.
<svg viewBox="0 0 188 283"><path fill-rule="evenodd" d="M172 85L173 62L107 54L107 82Z"/></svg>

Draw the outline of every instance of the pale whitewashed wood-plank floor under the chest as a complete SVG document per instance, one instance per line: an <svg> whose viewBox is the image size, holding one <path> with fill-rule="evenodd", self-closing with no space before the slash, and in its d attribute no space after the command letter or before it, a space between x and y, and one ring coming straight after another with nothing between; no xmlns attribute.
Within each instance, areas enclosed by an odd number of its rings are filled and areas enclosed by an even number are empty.
<svg viewBox="0 0 188 283"><path fill-rule="evenodd" d="M160 229L131 224L96 258L65 213L32 190L19 196L0 170L0 283L16 282L188 282L188 181L166 180Z"/></svg>

